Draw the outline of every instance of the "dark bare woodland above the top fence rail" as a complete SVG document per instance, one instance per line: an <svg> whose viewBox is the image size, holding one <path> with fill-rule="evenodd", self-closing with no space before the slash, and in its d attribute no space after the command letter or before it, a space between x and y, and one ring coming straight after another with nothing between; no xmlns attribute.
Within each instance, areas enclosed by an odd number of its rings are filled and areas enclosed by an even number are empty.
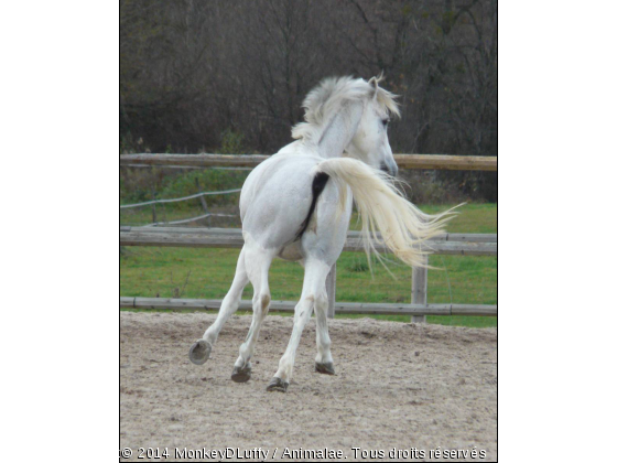
<svg viewBox="0 0 617 463"><path fill-rule="evenodd" d="M273 152L322 78L385 72L396 151L497 153L496 0L122 0L120 25L121 133L153 150Z"/></svg>

